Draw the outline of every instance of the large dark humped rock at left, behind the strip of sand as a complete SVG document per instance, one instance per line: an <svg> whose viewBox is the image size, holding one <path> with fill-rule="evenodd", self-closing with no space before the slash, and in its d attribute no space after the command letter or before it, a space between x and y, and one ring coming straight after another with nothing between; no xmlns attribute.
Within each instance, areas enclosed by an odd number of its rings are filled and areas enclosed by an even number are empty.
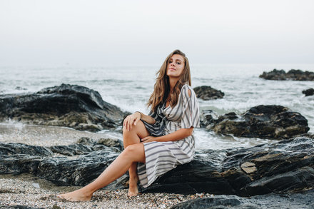
<svg viewBox="0 0 314 209"><path fill-rule="evenodd" d="M31 94L0 96L0 121L10 118L99 131L120 125L125 115L118 107L103 101L97 91L77 85L61 84Z"/></svg>

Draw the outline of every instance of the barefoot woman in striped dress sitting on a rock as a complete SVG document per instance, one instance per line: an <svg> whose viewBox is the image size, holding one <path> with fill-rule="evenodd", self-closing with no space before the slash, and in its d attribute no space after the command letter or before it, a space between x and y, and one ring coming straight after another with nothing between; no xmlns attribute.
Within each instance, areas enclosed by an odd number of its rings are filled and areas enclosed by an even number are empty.
<svg viewBox="0 0 314 209"><path fill-rule="evenodd" d="M191 88L188 58L173 51L158 71L148 100L151 112L136 112L123 121L124 151L92 183L71 193L66 200L91 200L93 193L129 172L128 195L138 194L137 183L148 187L163 173L193 160L193 128L199 127L196 95Z"/></svg>

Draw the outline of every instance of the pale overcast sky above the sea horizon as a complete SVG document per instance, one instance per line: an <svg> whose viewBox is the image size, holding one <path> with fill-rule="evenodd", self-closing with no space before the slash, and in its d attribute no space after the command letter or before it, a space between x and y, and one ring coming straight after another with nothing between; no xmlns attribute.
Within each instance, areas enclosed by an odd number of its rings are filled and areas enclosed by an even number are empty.
<svg viewBox="0 0 314 209"><path fill-rule="evenodd" d="M314 63L313 0L0 0L0 64Z"/></svg>

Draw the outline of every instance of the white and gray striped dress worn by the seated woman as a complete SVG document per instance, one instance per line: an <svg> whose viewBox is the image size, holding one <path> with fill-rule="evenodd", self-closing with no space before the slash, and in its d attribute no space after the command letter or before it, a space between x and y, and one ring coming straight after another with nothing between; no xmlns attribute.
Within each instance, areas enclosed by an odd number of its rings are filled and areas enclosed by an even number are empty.
<svg viewBox="0 0 314 209"><path fill-rule="evenodd" d="M188 95L188 89L191 90L191 96ZM180 128L196 128L200 125L198 100L193 88L187 84L182 86L176 106L166 107L166 103L163 103L158 106L156 113L151 111L148 115L156 120L153 125L143 121L151 136L163 136ZM193 134L179 141L143 143L146 163L138 163L137 167L141 185L146 188L163 173L193 160L194 143Z"/></svg>

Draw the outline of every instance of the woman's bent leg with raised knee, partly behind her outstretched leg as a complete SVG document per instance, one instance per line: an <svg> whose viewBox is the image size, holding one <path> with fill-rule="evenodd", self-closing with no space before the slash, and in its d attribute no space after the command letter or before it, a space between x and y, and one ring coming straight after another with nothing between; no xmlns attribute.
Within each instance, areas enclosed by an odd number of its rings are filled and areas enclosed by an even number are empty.
<svg viewBox="0 0 314 209"><path fill-rule="evenodd" d="M124 148L135 144L140 143L140 138L149 136L148 131L146 130L142 121L138 121L136 126L133 126L131 131L127 131L126 128L123 128L123 146ZM128 180L128 196L135 196L138 194L138 175L137 175L137 162L132 163L131 167L128 169L128 174L130 178Z"/></svg>

